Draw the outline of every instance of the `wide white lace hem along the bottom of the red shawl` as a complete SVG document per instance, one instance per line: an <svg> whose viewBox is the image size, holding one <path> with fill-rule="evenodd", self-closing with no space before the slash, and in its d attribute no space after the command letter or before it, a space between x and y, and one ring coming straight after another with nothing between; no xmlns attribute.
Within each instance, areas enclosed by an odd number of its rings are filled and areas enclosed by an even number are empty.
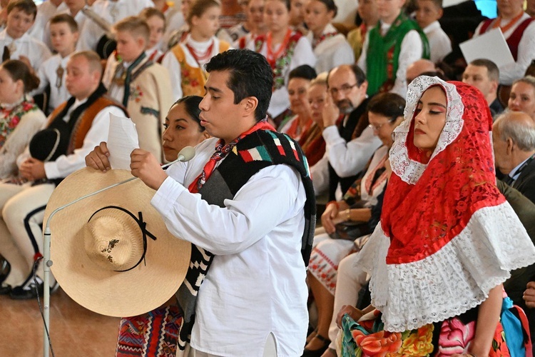
<svg viewBox="0 0 535 357"><path fill-rule="evenodd" d="M459 235L420 261L387 264L390 245L377 225L356 265L370 273L372 305L384 329L407 331L478 306L509 271L535 262L535 247L509 203L476 211Z"/></svg>

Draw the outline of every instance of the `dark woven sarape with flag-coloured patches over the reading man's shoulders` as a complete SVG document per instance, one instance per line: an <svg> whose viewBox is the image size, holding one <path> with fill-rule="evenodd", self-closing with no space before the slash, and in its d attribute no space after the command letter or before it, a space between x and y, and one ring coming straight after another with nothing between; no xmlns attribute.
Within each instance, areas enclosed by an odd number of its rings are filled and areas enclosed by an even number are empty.
<svg viewBox="0 0 535 357"><path fill-rule="evenodd" d="M307 200L305 201L305 229L302 235L301 254L307 266L316 223L315 193L307 159L300 146L289 136L264 130L245 136L213 171L210 178L200 188L199 193L208 203L224 207L225 199L234 198L254 174L268 166L280 164L296 169L305 187ZM185 343L190 341L193 323L195 323L197 293L204 276L208 273L213 257L212 253L192 244L191 263L185 280L176 293L183 316L183 324L178 334L178 347L181 350L185 348Z"/></svg>

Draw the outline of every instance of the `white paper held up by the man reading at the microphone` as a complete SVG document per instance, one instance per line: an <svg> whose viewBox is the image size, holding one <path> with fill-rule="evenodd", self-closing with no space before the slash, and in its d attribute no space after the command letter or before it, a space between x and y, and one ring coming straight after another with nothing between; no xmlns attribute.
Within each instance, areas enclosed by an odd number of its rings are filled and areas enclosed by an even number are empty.
<svg viewBox="0 0 535 357"><path fill-rule="evenodd" d="M108 150L111 169L130 170L130 154L139 148L136 124L130 118L110 114Z"/></svg>

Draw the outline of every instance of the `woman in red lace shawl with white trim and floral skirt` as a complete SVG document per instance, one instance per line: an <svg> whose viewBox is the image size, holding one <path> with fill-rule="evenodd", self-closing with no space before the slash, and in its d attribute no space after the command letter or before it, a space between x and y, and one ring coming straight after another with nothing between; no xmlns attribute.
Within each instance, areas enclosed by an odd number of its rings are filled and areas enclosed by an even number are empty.
<svg viewBox="0 0 535 357"><path fill-rule="evenodd" d="M342 308L342 356L379 352L370 346L410 356L531 356L516 317L523 311L501 283L534 263L535 247L496 188L491 125L472 86L427 76L409 86L381 223L358 261L371 276L372 306Z"/></svg>

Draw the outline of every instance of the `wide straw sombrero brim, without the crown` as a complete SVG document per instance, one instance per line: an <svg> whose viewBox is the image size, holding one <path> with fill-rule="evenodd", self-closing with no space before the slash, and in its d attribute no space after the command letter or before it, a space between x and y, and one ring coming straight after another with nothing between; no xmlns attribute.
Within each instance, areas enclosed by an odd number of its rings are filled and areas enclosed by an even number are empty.
<svg viewBox="0 0 535 357"><path fill-rule="evenodd" d="M76 171L52 193L44 224L56 208L131 177L126 170ZM191 245L169 233L151 206L154 193L135 179L74 203L51 218L51 271L81 306L107 316L137 316L158 308L178 290L188 271ZM91 261L83 248L83 226L95 211L111 205L134 214L143 212L148 231L156 236L156 241L148 239L145 262L131 271L107 271Z"/></svg>

